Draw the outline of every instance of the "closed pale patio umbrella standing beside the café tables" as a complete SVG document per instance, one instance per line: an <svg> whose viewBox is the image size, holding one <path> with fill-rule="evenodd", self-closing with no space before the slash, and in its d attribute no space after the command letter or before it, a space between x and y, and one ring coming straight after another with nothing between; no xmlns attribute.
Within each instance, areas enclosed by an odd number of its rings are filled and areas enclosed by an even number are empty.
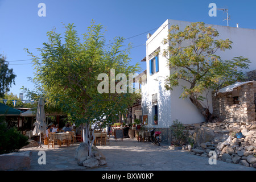
<svg viewBox="0 0 256 182"><path fill-rule="evenodd" d="M38 110L36 112L36 122L35 122L35 128L33 131L33 135L38 135L40 136L40 148L42 147L41 145L41 133L45 134L46 133L46 113L44 113L44 101L42 98L39 98L38 101Z"/></svg>

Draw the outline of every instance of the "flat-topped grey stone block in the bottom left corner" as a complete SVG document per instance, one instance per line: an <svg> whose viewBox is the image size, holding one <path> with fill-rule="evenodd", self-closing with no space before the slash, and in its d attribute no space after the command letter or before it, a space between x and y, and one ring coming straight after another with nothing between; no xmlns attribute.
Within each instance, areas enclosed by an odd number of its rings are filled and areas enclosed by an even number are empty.
<svg viewBox="0 0 256 182"><path fill-rule="evenodd" d="M0 170L23 170L29 169L32 152L13 152L0 155Z"/></svg>

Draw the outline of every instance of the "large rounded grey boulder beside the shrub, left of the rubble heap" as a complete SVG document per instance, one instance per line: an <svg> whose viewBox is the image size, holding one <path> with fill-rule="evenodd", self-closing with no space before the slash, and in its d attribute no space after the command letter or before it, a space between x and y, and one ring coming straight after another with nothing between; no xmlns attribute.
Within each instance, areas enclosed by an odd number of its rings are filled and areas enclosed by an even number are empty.
<svg viewBox="0 0 256 182"><path fill-rule="evenodd" d="M200 143L210 142L215 137L214 131L209 127L200 127L195 130L193 133L193 139L195 144L199 145Z"/></svg>

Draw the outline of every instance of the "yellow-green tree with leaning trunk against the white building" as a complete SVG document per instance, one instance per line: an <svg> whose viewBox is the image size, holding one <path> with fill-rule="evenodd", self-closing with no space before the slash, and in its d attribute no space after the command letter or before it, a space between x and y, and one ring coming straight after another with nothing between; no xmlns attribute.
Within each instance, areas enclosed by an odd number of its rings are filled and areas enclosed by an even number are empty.
<svg viewBox="0 0 256 182"><path fill-rule="evenodd" d="M247 69L250 63L244 57L221 60L216 51L231 49L232 42L229 39L216 39L218 35L213 27L197 22L185 27L184 31L177 25L171 26L168 37L163 40L168 45L164 56L172 71L166 79L166 89L172 90L180 85L180 80L185 81L187 85L181 85L183 93L180 97L189 97L206 121L210 121L212 114L209 107L203 104L205 97L202 94L210 88L218 90L243 80L245 75L239 70Z"/></svg>

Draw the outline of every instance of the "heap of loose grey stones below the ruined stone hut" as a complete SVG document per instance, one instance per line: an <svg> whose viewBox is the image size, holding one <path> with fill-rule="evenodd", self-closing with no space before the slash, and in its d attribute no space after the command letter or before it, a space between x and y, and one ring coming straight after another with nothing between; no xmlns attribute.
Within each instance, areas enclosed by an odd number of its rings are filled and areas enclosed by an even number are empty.
<svg viewBox="0 0 256 182"><path fill-rule="evenodd" d="M191 154L208 157L210 151L215 151L217 160L256 168L256 122L247 125L203 123L202 126L211 128L216 135L214 139L191 149ZM242 138L237 137L239 133Z"/></svg>

